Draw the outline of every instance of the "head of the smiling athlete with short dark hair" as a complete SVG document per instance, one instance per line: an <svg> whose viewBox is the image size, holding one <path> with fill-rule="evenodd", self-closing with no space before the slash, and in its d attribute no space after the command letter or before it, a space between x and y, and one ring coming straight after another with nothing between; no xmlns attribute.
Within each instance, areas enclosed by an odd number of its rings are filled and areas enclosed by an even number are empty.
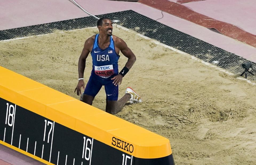
<svg viewBox="0 0 256 165"><path fill-rule="evenodd" d="M97 27L100 33L112 36L113 22L111 19L106 17L100 18L97 22Z"/></svg>

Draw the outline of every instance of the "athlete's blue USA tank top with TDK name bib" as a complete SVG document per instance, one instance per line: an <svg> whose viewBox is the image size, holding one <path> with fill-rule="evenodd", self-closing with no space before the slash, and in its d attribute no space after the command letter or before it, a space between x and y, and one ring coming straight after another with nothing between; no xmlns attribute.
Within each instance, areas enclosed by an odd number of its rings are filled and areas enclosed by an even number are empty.
<svg viewBox="0 0 256 165"><path fill-rule="evenodd" d="M93 59L93 72L102 79L109 79L118 74L119 55L115 52L113 36L110 37L109 47L102 50L98 45L98 36L95 36L91 57Z"/></svg>

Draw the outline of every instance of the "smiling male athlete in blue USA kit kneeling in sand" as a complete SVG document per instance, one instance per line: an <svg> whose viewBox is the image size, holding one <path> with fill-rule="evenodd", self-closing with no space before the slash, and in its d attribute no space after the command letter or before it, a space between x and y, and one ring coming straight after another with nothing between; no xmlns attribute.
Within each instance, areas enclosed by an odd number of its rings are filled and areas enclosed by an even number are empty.
<svg viewBox="0 0 256 165"><path fill-rule="evenodd" d="M97 22L99 34L94 35L85 41L84 48L78 61L78 84L75 88L77 95L81 94L80 100L92 105L94 97L101 87L105 86L106 91L106 112L116 114L121 111L127 101L140 103L141 98L132 88L126 88L125 95L118 99L118 85L122 83L125 74L131 69L136 57L127 47L125 41L112 35L113 23L109 18L101 18ZM119 51L128 58L125 67L118 73ZM93 69L88 83L83 81L85 62L91 52ZM81 87L85 91L81 92Z"/></svg>

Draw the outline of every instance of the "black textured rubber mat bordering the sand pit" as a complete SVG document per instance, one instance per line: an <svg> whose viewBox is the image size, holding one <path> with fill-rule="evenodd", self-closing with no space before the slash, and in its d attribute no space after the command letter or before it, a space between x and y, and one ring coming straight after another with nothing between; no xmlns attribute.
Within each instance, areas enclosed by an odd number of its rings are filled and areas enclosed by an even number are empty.
<svg viewBox="0 0 256 165"><path fill-rule="evenodd" d="M118 24L123 27L129 29L139 29L138 32L142 35L191 54L205 62L212 63L213 61L220 61L219 64L214 65L217 65L234 74L239 74L244 71L241 66L242 63L251 62L243 57L235 55L234 53L227 52L221 48L180 32L132 10L97 15L97 17L108 17L112 20L120 20L120 23ZM2 30L0 31L0 40L53 33L54 30L73 30L93 26L97 26L97 20L92 16L89 16ZM253 66L256 66L254 62L251 63ZM255 76L250 74L248 74L247 79L256 81Z"/></svg>

